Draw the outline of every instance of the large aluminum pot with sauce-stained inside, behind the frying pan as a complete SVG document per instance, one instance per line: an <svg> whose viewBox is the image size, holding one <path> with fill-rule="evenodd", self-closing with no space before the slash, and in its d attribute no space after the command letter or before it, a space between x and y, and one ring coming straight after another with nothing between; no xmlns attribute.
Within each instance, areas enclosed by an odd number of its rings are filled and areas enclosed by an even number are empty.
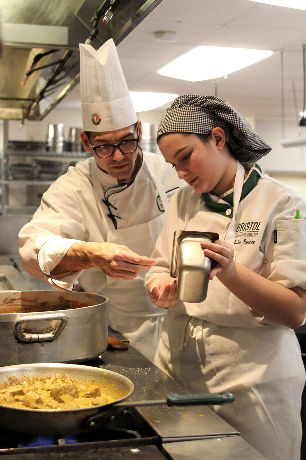
<svg viewBox="0 0 306 460"><path fill-rule="evenodd" d="M107 308L108 298L98 294L0 291L0 366L100 356Z"/></svg>

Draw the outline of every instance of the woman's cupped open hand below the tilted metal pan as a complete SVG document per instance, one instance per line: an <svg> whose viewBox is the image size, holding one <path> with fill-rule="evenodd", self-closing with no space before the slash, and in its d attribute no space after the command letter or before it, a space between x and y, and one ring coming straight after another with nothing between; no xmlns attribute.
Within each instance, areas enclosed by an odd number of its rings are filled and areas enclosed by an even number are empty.
<svg viewBox="0 0 306 460"><path fill-rule="evenodd" d="M148 286L153 303L168 308L178 302L177 282L171 276L157 276Z"/></svg>

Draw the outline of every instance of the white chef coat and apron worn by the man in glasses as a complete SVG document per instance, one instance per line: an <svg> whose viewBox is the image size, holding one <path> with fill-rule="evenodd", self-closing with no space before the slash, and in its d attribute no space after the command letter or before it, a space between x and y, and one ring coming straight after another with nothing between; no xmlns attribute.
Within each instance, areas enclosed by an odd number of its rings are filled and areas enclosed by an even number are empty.
<svg viewBox="0 0 306 460"><path fill-rule="evenodd" d="M97 267L50 277L75 242L115 242L150 257L166 221L168 202L184 182L161 155L143 152L134 182L118 184L101 171L94 158L68 169L47 190L40 208L19 233L22 264L31 274L59 290L71 290L77 279L85 291L109 298L111 327L153 360L164 311L144 288L145 272L135 280L106 276ZM110 203L117 230L107 217Z"/></svg>

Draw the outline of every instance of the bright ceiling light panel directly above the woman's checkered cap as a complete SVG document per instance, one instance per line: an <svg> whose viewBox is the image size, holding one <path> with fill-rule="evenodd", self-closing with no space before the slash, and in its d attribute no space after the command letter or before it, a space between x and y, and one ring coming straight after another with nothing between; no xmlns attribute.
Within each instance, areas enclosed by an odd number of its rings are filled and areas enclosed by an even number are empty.
<svg viewBox="0 0 306 460"><path fill-rule="evenodd" d="M272 51L223 46L197 46L157 73L187 81L220 78L271 56Z"/></svg>

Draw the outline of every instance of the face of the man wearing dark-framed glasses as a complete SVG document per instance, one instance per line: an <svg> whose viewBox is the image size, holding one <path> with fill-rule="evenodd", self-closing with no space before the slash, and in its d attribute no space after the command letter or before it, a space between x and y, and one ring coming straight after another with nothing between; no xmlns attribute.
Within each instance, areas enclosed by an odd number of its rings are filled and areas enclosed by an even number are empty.
<svg viewBox="0 0 306 460"><path fill-rule="evenodd" d="M141 142L142 131L141 122L137 122L139 131L139 142ZM90 142L93 147L97 145L117 145L120 142L129 139L136 139L137 129L136 124L126 128L116 129L115 131L92 132L90 135ZM119 148L115 149L113 155L107 158L100 158L96 155L95 150L91 149L89 139L84 131L81 131L81 139L86 152L93 151L95 161L100 169L107 174L110 174L118 182L130 179L137 168L139 167L140 157L138 155L138 148L132 153L122 153Z"/></svg>

